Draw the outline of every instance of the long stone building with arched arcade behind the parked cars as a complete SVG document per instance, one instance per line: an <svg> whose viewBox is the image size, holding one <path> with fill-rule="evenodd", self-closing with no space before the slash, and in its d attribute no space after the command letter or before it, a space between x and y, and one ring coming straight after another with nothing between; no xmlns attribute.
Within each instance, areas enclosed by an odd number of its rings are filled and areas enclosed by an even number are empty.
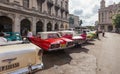
<svg viewBox="0 0 120 74"><path fill-rule="evenodd" d="M0 0L0 30L33 34L67 29L69 0Z"/></svg>

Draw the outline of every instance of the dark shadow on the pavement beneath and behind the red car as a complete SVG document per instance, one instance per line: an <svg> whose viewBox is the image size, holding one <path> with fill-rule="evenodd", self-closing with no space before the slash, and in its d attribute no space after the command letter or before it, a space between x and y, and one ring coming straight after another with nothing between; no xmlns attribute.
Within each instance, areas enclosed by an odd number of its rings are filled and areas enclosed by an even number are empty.
<svg viewBox="0 0 120 74"><path fill-rule="evenodd" d="M70 49L44 53L43 55L44 69L43 70L54 67L55 65L61 66L64 64L69 64L72 60L70 56L71 53L81 53L81 52L88 53L88 51L89 49L86 49L86 48L73 47Z"/></svg>

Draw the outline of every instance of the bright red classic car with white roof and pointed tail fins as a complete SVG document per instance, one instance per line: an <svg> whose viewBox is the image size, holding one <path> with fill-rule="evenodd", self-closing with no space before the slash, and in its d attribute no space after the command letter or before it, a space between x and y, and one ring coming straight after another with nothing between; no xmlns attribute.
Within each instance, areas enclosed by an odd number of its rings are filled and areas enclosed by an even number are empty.
<svg viewBox="0 0 120 74"><path fill-rule="evenodd" d="M73 40L60 37L57 32L38 32L37 37L29 40L45 51L66 49L74 46Z"/></svg>

